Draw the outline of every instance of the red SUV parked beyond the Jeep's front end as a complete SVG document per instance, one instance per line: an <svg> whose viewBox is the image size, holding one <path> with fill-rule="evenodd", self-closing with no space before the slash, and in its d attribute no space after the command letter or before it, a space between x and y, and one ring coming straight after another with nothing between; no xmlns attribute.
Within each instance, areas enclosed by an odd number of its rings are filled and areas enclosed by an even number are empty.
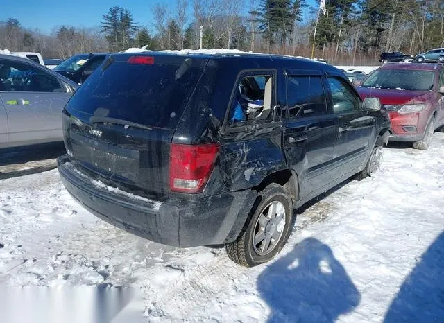
<svg viewBox="0 0 444 323"><path fill-rule="evenodd" d="M391 121L391 141L429 148L434 130L444 125L444 67L440 64L386 64L358 89L364 99L379 98Z"/></svg>

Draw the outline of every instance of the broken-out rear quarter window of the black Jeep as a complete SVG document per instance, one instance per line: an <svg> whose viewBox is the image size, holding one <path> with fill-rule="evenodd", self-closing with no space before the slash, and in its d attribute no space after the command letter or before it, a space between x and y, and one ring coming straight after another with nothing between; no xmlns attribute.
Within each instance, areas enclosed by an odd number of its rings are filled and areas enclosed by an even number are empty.
<svg viewBox="0 0 444 323"><path fill-rule="evenodd" d="M252 75L241 78L230 109L230 123L271 120L273 76Z"/></svg>

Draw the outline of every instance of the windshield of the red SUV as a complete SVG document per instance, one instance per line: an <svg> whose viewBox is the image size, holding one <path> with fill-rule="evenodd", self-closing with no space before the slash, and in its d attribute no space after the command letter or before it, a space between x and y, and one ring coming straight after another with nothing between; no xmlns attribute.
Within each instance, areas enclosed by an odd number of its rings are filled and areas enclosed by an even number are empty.
<svg viewBox="0 0 444 323"><path fill-rule="evenodd" d="M433 88L434 76L434 71L380 69L371 74L362 84L362 87L429 91Z"/></svg>

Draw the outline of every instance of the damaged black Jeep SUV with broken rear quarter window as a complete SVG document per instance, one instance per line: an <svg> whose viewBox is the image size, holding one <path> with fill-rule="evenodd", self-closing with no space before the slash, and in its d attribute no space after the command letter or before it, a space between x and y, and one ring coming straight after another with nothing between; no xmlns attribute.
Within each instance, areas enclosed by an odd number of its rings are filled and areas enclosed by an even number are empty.
<svg viewBox="0 0 444 323"><path fill-rule="evenodd" d="M63 112L65 187L99 218L178 247L275 256L293 209L371 175L388 141L376 98L338 69L273 55L114 54Z"/></svg>

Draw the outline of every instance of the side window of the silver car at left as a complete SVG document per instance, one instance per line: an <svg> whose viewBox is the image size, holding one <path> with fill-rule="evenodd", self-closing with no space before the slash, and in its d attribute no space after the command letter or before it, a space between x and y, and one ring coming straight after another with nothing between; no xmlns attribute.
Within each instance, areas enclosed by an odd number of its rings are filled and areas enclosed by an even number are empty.
<svg viewBox="0 0 444 323"><path fill-rule="evenodd" d="M55 76L31 64L0 60L0 91L62 92Z"/></svg>

